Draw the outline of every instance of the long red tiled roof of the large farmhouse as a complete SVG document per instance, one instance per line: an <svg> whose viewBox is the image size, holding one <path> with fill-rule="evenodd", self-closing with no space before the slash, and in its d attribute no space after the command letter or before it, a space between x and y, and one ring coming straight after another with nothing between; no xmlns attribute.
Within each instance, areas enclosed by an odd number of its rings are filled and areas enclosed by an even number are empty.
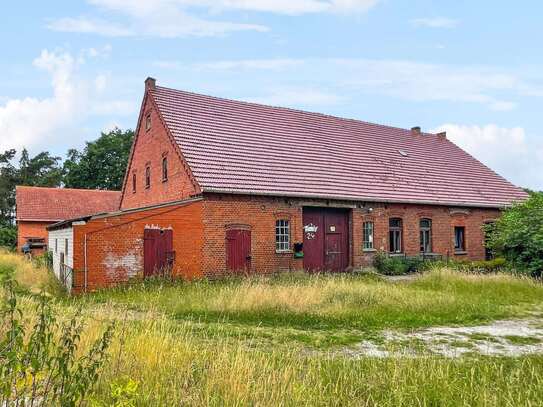
<svg viewBox="0 0 543 407"><path fill-rule="evenodd" d="M159 86L150 92L204 192L490 207L527 196L435 134Z"/></svg>

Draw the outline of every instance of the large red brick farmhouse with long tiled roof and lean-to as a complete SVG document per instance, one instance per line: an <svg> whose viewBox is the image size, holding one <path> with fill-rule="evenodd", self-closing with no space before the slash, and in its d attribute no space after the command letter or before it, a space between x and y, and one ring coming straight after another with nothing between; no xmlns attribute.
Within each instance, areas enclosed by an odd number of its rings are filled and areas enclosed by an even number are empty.
<svg viewBox="0 0 543 407"><path fill-rule="evenodd" d="M526 194L429 134L145 82L117 212L70 231L73 286L343 271L397 255L485 258L483 225Z"/></svg>

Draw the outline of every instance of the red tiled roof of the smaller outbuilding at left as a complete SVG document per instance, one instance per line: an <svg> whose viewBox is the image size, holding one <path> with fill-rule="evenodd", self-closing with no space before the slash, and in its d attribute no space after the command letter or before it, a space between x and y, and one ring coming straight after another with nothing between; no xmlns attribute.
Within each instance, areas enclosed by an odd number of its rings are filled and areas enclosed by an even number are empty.
<svg viewBox="0 0 543 407"><path fill-rule="evenodd" d="M17 220L60 221L119 209L121 193L18 186Z"/></svg>

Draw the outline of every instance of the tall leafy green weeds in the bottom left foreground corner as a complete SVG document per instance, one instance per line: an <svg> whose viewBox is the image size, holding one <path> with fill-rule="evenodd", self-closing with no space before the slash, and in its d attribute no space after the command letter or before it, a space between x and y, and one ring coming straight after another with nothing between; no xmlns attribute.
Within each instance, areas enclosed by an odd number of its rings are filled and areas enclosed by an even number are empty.
<svg viewBox="0 0 543 407"><path fill-rule="evenodd" d="M35 296L36 321L28 330L13 273L1 273L0 405L80 405L106 361L113 325L86 354L77 356L79 314L59 323L50 300L40 294Z"/></svg>

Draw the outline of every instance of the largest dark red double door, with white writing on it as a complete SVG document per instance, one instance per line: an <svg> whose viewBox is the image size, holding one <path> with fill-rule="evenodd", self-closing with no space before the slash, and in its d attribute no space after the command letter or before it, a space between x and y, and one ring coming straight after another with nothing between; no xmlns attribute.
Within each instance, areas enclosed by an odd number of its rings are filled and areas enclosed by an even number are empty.
<svg viewBox="0 0 543 407"><path fill-rule="evenodd" d="M349 213L304 208L304 269L343 271L349 266Z"/></svg>

